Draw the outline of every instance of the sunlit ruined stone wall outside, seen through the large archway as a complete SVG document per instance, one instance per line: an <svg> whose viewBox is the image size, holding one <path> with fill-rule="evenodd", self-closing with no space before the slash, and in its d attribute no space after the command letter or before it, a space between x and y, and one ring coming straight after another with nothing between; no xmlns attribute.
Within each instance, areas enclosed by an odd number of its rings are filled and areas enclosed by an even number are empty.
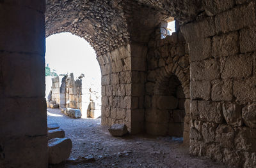
<svg viewBox="0 0 256 168"><path fill-rule="evenodd" d="M100 116L100 95L99 91L93 90L93 86L86 83L86 78L74 80L74 74L65 76L56 76L52 78L52 87L50 92L51 99L47 101L48 107L51 107L52 101L63 109L80 109L82 117L97 118Z"/></svg>

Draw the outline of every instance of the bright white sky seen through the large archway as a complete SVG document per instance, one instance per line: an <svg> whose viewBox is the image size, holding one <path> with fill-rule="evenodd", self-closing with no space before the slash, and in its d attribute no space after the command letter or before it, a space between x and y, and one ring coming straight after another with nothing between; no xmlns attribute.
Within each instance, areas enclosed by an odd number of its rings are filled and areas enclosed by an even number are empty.
<svg viewBox="0 0 256 168"><path fill-rule="evenodd" d="M85 78L100 84L101 73L95 51L85 39L70 32L46 38L45 64L58 74L74 73L76 78L83 73Z"/></svg>

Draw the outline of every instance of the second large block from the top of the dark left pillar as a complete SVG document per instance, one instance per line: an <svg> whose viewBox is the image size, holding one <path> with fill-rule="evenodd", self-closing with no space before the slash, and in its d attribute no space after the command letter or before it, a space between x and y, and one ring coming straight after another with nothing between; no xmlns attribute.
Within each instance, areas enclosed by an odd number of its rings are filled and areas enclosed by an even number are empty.
<svg viewBox="0 0 256 168"><path fill-rule="evenodd" d="M4 95L8 97L45 96L44 57L3 52L0 53L0 59L0 73L3 78L1 85L4 86Z"/></svg>

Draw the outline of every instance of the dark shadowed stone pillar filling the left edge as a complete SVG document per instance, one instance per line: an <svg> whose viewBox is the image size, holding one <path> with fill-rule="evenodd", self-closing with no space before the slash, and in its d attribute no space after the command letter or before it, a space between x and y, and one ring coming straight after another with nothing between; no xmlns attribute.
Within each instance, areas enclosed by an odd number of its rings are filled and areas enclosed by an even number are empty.
<svg viewBox="0 0 256 168"><path fill-rule="evenodd" d="M47 167L45 1L0 1L0 167Z"/></svg>

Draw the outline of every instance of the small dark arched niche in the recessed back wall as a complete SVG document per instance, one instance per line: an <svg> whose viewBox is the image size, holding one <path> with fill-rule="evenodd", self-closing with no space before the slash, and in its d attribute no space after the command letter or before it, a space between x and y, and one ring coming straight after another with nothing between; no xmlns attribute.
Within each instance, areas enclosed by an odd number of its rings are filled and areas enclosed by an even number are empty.
<svg viewBox="0 0 256 168"><path fill-rule="evenodd" d="M146 124L148 134L183 137L186 96L179 78L172 74L157 83Z"/></svg>

